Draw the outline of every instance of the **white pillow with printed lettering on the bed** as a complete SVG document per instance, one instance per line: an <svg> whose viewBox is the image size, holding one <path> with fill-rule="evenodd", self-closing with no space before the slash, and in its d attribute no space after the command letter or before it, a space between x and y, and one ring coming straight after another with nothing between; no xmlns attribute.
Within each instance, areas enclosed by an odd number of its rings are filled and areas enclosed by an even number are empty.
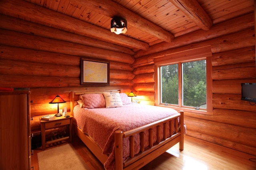
<svg viewBox="0 0 256 170"><path fill-rule="evenodd" d="M122 100L120 98L119 93L103 93L105 102L106 102L106 108L112 108L112 107L122 107Z"/></svg>

